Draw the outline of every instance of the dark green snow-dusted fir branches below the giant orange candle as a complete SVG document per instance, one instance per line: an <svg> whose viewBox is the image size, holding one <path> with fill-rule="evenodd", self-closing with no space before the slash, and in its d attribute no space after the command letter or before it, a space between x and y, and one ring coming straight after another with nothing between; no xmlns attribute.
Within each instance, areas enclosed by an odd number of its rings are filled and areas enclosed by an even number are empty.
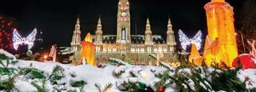
<svg viewBox="0 0 256 92"><path fill-rule="evenodd" d="M178 66L158 75L161 80L155 83L155 87L159 89L165 86L181 91L246 91L245 83L236 77L240 69L241 66L227 70L218 67L208 69L198 66L193 68L188 65Z"/></svg>

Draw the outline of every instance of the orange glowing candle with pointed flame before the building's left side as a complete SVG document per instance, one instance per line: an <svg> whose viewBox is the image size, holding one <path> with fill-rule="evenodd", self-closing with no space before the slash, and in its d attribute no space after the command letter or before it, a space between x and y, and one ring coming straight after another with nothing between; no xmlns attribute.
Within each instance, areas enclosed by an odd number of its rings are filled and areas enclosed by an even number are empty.
<svg viewBox="0 0 256 92"><path fill-rule="evenodd" d="M93 38L90 33L86 34L85 41L82 41L81 60L79 62L80 64L82 64L82 58L86 58L87 64L96 66L95 45L93 43Z"/></svg>

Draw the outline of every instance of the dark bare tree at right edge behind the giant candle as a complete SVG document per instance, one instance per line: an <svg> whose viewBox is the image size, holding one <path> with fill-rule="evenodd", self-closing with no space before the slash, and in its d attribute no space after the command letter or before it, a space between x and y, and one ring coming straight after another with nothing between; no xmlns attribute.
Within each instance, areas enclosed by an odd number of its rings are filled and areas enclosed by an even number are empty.
<svg viewBox="0 0 256 92"><path fill-rule="evenodd" d="M246 0L234 16L238 32L238 50L241 53L248 53L251 48L246 43L247 40L256 39L256 2Z"/></svg>

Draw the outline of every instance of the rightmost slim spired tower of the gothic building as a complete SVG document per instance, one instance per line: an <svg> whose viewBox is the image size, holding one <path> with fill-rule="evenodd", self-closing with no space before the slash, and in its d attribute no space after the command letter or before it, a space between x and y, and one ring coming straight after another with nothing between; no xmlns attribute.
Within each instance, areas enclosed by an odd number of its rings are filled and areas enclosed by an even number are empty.
<svg viewBox="0 0 256 92"><path fill-rule="evenodd" d="M170 22L170 18L168 19L166 34L167 34L166 43L170 47L170 52L174 52L176 50L176 41L175 41L173 26L171 25L171 22Z"/></svg>

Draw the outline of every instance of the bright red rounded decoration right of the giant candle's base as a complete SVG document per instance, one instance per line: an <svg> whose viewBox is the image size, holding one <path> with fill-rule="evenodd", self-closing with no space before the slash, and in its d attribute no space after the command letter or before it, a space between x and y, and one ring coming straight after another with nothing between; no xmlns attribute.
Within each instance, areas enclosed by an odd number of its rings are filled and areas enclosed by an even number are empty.
<svg viewBox="0 0 256 92"><path fill-rule="evenodd" d="M238 59L240 63L242 64L242 69L250 69L250 68L256 68L256 58L254 58L251 54L241 54L238 56L238 58L234 59L234 62L232 63L232 66L238 66Z"/></svg>

